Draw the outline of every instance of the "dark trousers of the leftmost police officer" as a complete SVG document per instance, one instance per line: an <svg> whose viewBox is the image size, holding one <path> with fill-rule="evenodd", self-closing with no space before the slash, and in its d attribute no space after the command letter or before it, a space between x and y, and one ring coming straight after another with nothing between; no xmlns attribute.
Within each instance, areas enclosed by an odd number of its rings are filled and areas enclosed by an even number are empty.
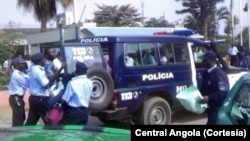
<svg viewBox="0 0 250 141"><path fill-rule="evenodd" d="M9 104L12 109L12 126L23 126L25 121L23 96L10 95Z"/></svg>

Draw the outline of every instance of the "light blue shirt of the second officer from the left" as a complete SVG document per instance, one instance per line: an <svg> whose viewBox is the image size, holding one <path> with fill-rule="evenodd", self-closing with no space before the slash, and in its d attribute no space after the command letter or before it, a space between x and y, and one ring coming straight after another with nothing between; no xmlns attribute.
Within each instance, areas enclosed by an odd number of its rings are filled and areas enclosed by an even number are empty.
<svg viewBox="0 0 250 141"><path fill-rule="evenodd" d="M49 89L44 88L49 83L44 67L31 65L30 67L30 94L35 96L49 96Z"/></svg>

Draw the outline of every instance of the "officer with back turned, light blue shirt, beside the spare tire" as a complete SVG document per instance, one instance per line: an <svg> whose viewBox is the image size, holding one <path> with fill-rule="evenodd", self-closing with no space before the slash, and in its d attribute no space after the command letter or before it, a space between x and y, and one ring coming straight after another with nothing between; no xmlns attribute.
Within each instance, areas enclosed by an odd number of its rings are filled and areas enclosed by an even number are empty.
<svg viewBox="0 0 250 141"><path fill-rule="evenodd" d="M62 124L79 125L88 122L88 106L93 84L86 76L87 69L84 63L76 62L76 76L69 81L62 95L64 109Z"/></svg>

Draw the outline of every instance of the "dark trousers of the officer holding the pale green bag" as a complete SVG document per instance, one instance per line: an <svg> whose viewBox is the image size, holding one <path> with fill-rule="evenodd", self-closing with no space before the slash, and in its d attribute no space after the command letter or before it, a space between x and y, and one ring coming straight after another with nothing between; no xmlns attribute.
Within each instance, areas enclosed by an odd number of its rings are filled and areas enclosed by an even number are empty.
<svg viewBox="0 0 250 141"><path fill-rule="evenodd" d="M207 125L216 125L220 108L207 109Z"/></svg>

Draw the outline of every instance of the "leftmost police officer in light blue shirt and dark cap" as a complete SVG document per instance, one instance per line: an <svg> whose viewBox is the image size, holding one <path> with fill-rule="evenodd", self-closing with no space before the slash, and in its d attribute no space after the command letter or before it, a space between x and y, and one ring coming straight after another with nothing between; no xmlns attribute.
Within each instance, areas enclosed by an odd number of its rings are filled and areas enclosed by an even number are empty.
<svg viewBox="0 0 250 141"><path fill-rule="evenodd" d="M24 94L29 86L29 76L23 73L26 61L14 58L11 63L14 70L11 74L8 91L10 94L9 104L12 109L12 126L22 126L25 121Z"/></svg>

